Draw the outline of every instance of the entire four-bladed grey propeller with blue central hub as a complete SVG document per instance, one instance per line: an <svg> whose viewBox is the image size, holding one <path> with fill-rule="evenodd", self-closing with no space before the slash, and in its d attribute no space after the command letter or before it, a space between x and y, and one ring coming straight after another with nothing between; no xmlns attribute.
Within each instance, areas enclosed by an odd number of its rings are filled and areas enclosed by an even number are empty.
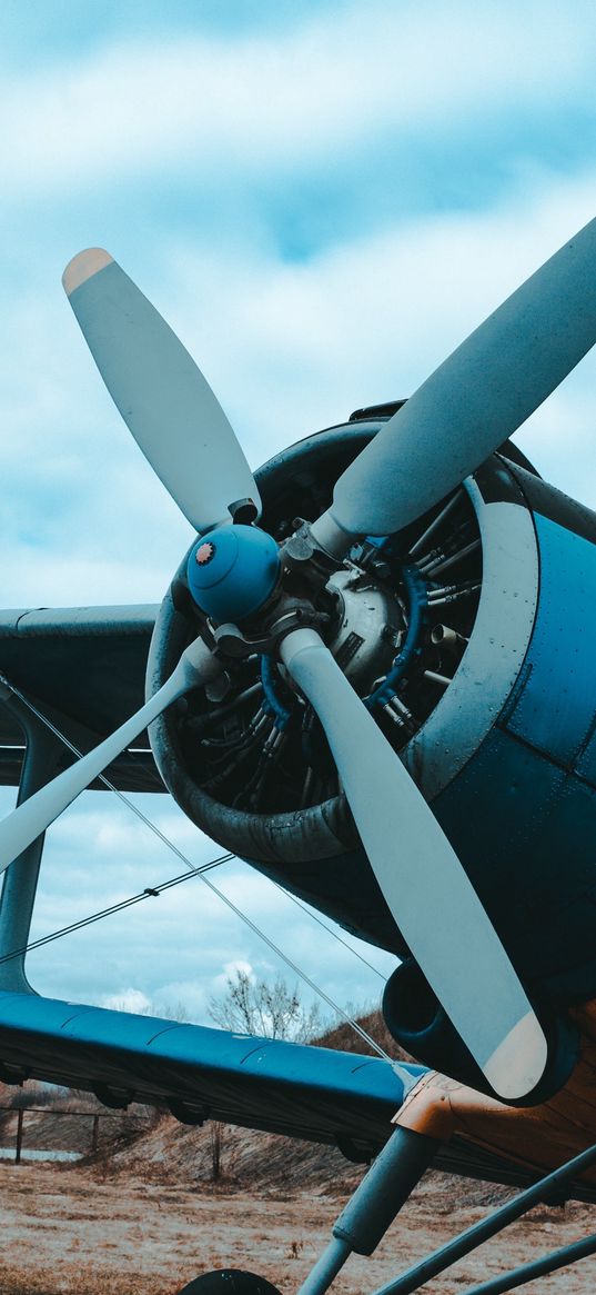
<svg viewBox="0 0 596 1295"><path fill-rule="evenodd" d="M354 536L392 534L421 515L562 381L596 341L595 253L592 221L389 420L340 477L331 508L313 524L323 548L343 557ZM252 501L255 517L260 501L213 392L107 253L94 249L75 256L65 287L124 421L202 532L197 601L202 605L203 598L209 611L207 601L215 597L217 611L211 614L220 623L239 615L238 607L242 615L248 614L246 606L257 615L278 566L273 541L244 543L240 532L251 528L234 526L233 543L226 539L231 528L222 523L235 514L234 505ZM371 868L424 975L494 1090L511 1099L526 1096L544 1071L547 1042L449 840L319 636L292 629L279 654L322 721ZM167 704L221 668L200 641L187 649L137 715L4 820L0 868Z"/></svg>

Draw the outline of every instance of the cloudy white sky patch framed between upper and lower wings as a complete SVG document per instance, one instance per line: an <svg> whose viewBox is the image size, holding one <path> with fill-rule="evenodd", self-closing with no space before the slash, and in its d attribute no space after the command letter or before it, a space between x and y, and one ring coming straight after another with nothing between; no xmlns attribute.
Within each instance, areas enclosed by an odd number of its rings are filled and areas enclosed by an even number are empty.
<svg viewBox="0 0 596 1295"><path fill-rule="evenodd" d="M144 798L140 799L142 803ZM83 807L71 808L48 834L34 938L119 903L180 870L178 864L172 866L165 850L162 859L153 853L147 857L136 824L131 833L125 830L125 811L114 796L88 793L84 800ZM165 798L154 796L146 808L168 831L172 808ZM207 838L202 842L203 859L218 852ZM239 861L208 877L310 979L322 983L335 1001L378 997L376 976L331 934L315 927L266 878ZM366 956L365 945L346 940L361 947ZM328 952L322 962L323 948ZM393 960L379 951L371 962L381 969L393 966ZM283 958L199 878L45 945L30 954L28 967L35 988L54 997L124 1005L134 1011L149 1010L151 1005L158 1014L169 1014L181 1005L190 1019L207 1024L209 996L225 992L226 979L237 969L265 979L281 971L292 984L297 979ZM312 991L301 985L301 992L310 1001Z"/></svg>

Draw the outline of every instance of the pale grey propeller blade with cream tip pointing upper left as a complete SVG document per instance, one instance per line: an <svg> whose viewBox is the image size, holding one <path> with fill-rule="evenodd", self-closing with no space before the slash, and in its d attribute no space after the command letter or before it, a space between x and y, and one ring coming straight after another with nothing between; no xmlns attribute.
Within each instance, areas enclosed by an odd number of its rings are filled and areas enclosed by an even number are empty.
<svg viewBox="0 0 596 1295"><path fill-rule="evenodd" d="M101 247L62 276L87 344L124 422L197 531L261 501L228 418L165 320Z"/></svg>

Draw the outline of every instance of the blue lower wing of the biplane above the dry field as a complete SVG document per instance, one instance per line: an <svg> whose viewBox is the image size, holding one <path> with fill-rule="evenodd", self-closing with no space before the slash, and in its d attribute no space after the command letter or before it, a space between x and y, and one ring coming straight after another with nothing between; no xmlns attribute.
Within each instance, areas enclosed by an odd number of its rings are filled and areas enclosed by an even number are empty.
<svg viewBox="0 0 596 1295"><path fill-rule="evenodd" d="M222 1120L335 1145L354 1160L376 1155L405 1097L431 1074L358 1053L26 993L0 993L0 1058L4 1083L41 1079L93 1092L107 1106L167 1106L187 1124ZM434 1164L520 1186L535 1177L458 1137ZM596 1188L583 1182L571 1194L596 1200Z"/></svg>

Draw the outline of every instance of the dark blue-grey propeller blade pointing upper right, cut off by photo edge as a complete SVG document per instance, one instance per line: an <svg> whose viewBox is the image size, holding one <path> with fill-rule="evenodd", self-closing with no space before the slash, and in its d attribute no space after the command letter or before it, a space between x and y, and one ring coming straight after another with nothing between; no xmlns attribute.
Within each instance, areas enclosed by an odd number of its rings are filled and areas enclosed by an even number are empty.
<svg viewBox="0 0 596 1295"><path fill-rule="evenodd" d="M490 315L339 478L313 535L390 535L498 449L596 342L596 220Z"/></svg>

